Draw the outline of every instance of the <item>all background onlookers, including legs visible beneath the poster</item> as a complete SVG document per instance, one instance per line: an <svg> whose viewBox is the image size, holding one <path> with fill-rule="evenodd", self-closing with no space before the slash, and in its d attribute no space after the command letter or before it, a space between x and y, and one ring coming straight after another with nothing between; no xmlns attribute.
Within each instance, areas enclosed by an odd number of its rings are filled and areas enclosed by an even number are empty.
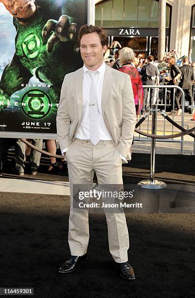
<svg viewBox="0 0 195 298"><path fill-rule="evenodd" d="M189 101L190 105L193 105L192 83L195 79L195 62L192 63L191 53L190 51L188 57L183 56L180 59L178 59L175 51L166 53L164 64L162 65L157 63L153 56L148 56L146 59L142 54L136 56L131 48L122 48L118 41L114 41L111 47L107 47L104 59L109 67L130 76L136 113L139 115L149 110L150 105L154 103L155 96L155 88L150 88L148 93L148 88L143 89L143 85L166 84L180 86L185 93L185 100ZM170 89L170 105L172 107L170 114L180 115L182 113L180 100L180 91ZM192 109L189 109L189 113L192 113ZM33 139L29 141L39 149L42 149L43 140ZM13 145L15 146L15 173L23 176L26 171L25 165L28 161L29 173L36 175L41 153L30 149L19 139L0 138L0 176L2 176L2 168L6 161L8 148ZM55 140L45 140L45 147L48 152L56 154ZM57 173L59 170L67 168L64 159L57 163L54 157L50 157L50 162L48 173Z"/></svg>

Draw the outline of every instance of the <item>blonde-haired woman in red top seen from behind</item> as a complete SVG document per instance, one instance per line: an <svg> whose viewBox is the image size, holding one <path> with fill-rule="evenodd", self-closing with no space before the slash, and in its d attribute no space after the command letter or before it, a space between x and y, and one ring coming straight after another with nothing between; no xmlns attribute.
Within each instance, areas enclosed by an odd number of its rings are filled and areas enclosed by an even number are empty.
<svg viewBox="0 0 195 298"><path fill-rule="evenodd" d="M143 106L143 86L141 76L134 66L135 55L131 48L124 47L120 52L122 67L118 70L130 76L135 100L137 115L141 112Z"/></svg>

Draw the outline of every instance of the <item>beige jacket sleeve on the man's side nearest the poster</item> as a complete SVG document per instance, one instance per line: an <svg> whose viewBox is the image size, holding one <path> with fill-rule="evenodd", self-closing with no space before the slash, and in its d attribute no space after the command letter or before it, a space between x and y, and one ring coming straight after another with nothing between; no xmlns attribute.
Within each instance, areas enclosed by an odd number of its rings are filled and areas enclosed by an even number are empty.
<svg viewBox="0 0 195 298"><path fill-rule="evenodd" d="M60 101L57 109L56 124L57 138L62 151L63 149L66 149L70 146L70 118L67 105L67 75L65 76L62 84Z"/></svg>

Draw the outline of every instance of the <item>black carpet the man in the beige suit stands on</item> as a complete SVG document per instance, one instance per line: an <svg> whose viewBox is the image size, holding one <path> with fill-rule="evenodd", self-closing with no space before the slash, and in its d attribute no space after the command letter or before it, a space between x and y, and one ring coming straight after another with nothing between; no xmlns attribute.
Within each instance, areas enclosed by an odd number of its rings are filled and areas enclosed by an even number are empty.
<svg viewBox="0 0 195 298"><path fill-rule="evenodd" d="M169 184L194 185L194 168L194 156L157 155L155 176ZM68 180L66 171L48 175L45 166L39 170L35 179ZM149 155L133 154L123 171L125 184L145 179ZM4 175L16 178L9 168ZM89 215L88 261L71 274L58 273L70 254L69 201L57 195L0 192L0 287L34 287L36 298L194 297L194 213L126 214L129 261L136 274L136 280L128 281L113 267L101 213Z"/></svg>

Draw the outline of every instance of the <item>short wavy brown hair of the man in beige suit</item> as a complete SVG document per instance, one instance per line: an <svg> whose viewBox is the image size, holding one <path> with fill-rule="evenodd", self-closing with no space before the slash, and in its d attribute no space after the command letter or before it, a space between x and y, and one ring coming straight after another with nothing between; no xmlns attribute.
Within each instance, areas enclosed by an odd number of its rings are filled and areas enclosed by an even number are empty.
<svg viewBox="0 0 195 298"><path fill-rule="evenodd" d="M93 33L93 32L96 32L99 35L102 46L104 46L104 45L107 46L108 40L107 40L105 31L102 28L100 28L99 26L93 26L93 25L88 25L88 24L83 25L79 30L79 33L78 33L79 46L81 44L81 37L85 34L89 34L89 33Z"/></svg>

